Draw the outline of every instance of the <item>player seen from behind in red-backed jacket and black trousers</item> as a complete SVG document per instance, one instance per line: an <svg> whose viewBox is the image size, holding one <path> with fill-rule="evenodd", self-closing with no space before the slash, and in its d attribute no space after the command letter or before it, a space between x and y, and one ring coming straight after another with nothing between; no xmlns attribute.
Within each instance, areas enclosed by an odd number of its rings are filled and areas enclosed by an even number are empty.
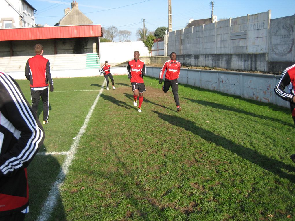
<svg viewBox="0 0 295 221"><path fill-rule="evenodd" d="M41 96L43 102L43 124L47 124L49 114L48 82L50 84L50 92L53 92L53 80L50 74L49 60L42 56L43 46L37 44L34 46L34 50L36 55L27 61L24 74L30 81L32 109L37 115Z"/></svg>

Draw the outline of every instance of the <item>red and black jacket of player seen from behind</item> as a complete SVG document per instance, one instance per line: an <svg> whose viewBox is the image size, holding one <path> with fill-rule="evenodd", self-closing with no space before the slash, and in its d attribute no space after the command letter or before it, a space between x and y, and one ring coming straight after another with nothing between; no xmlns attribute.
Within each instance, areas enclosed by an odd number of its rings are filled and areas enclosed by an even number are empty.
<svg viewBox="0 0 295 221"><path fill-rule="evenodd" d="M53 85L50 74L50 62L42 55L29 58L24 74L30 80L31 88L47 87L48 81L50 85Z"/></svg>

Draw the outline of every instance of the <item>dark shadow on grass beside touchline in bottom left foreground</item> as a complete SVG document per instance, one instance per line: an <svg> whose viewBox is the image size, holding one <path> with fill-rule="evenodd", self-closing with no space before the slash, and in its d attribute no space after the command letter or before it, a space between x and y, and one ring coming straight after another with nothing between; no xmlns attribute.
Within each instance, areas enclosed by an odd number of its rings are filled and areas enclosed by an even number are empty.
<svg viewBox="0 0 295 221"><path fill-rule="evenodd" d="M57 159L52 155L45 155L45 152L46 148L42 145L39 153L37 153L27 168L30 189L30 212L25 217L26 221L37 220L37 217L40 216L41 209L47 200L52 184L55 182L60 172L61 166ZM56 200L54 216L60 217L60 220L65 220L65 211L59 194ZM51 214L51 217L52 216L53 214Z"/></svg>

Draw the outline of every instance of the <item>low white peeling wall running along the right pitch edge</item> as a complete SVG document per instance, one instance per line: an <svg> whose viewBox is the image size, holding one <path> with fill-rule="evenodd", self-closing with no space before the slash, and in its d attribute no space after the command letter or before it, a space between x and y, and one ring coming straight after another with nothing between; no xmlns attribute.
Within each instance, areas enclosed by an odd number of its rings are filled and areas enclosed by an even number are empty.
<svg viewBox="0 0 295 221"><path fill-rule="evenodd" d="M147 76L159 78L161 68L147 67ZM178 82L194 87L241 96L260 102L289 107L289 102L274 93L279 75L234 71L211 71L181 68Z"/></svg>

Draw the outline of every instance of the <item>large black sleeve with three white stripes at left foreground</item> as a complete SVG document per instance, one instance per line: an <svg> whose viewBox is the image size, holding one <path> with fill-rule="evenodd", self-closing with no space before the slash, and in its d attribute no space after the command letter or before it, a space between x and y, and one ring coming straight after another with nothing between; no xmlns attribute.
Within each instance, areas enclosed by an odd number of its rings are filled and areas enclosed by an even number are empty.
<svg viewBox="0 0 295 221"><path fill-rule="evenodd" d="M41 123L18 84L0 72L0 177L26 168L43 144Z"/></svg>

